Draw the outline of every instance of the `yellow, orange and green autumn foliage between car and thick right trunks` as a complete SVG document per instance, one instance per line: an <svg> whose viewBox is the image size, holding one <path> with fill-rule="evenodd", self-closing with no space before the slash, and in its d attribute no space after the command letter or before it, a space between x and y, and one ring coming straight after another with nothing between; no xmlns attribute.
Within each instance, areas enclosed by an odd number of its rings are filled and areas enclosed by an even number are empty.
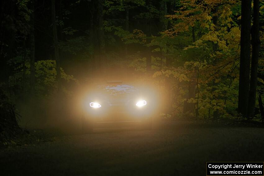
<svg viewBox="0 0 264 176"><path fill-rule="evenodd" d="M216 6L218 11L214 12L212 9ZM236 1L222 5L217 0L206 5L183 2L180 11L167 16L175 20L175 26L148 44L158 46L153 52L160 52L164 58L173 60L170 68L161 67L162 70L155 72L153 78L162 83L166 79L171 83L171 90L166 90L165 85L164 90L171 94L174 114L181 115L185 102L188 102L194 103L196 110L189 113L202 118L213 117L215 112L218 117L237 115L238 11L239 3ZM212 20L214 16L217 16L216 24ZM192 35L194 42L190 38ZM190 83L195 86L195 96L188 98Z"/></svg>

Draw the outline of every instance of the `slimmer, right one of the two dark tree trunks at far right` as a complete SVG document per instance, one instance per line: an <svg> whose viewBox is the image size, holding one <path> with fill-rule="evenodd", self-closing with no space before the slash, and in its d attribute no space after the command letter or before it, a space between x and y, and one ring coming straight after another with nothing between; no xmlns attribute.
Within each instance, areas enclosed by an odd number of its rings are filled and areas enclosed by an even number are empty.
<svg viewBox="0 0 264 176"><path fill-rule="evenodd" d="M251 59L251 73L250 73L250 88L248 99L248 117L254 117L254 110L256 104L256 91L257 91L257 66L258 54L260 47L259 39L259 0L254 0L253 7L253 26L251 31L252 36L252 59Z"/></svg>

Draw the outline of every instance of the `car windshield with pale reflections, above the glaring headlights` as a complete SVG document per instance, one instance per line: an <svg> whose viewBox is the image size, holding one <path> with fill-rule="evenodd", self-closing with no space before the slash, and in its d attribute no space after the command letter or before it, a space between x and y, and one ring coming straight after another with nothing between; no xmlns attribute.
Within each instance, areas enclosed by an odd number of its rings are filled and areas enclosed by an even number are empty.
<svg viewBox="0 0 264 176"><path fill-rule="evenodd" d="M99 85L98 89L110 95L131 94L137 91L137 88L129 84Z"/></svg>

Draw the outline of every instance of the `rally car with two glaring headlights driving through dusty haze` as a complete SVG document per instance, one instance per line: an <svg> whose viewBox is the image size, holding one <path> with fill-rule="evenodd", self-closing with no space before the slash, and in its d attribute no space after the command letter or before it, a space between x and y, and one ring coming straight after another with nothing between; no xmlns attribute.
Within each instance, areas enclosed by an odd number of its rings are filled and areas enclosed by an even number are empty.
<svg viewBox="0 0 264 176"><path fill-rule="evenodd" d="M98 84L84 98L82 131L139 124L152 128L155 98L151 90L121 81Z"/></svg>

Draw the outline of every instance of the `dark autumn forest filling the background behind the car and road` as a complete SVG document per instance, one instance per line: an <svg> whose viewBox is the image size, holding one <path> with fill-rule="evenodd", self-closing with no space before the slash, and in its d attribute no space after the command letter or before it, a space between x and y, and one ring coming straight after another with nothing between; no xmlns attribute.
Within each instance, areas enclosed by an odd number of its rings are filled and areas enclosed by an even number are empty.
<svg viewBox="0 0 264 176"><path fill-rule="evenodd" d="M262 0L2 0L0 18L2 136L108 79L155 86L165 119L264 121Z"/></svg>

